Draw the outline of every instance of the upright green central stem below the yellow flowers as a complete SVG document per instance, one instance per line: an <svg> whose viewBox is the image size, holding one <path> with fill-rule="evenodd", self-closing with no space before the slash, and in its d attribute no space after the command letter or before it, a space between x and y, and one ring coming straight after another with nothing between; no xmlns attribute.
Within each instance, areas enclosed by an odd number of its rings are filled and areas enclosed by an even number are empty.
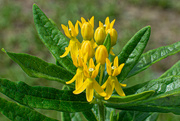
<svg viewBox="0 0 180 121"><path fill-rule="evenodd" d="M104 103L101 100L99 100L98 108L99 108L100 121L105 121Z"/></svg>

